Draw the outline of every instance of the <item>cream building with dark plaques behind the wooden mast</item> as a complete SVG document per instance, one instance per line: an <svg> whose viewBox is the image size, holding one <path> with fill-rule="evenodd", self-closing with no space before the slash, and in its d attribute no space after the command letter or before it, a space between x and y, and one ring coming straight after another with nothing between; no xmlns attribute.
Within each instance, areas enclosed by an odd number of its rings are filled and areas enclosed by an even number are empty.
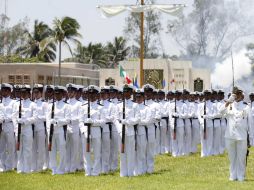
<svg viewBox="0 0 254 190"><path fill-rule="evenodd" d="M139 83L139 59L122 61L120 65L132 80L137 76ZM192 68L191 61L145 59L144 80L158 89L163 87L165 81L165 90L186 88L191 91L202 91L211 87L210 71ZM125 80L120 77L119 68L100 69L100 86L108 84L121 86L124 82Z"/></svg>

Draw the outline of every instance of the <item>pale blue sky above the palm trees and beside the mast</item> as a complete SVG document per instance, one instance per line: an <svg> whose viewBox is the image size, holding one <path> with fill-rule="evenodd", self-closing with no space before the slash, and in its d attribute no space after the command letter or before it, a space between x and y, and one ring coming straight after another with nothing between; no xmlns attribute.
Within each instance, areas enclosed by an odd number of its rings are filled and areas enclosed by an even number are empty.
<svg viewBox="0 0 254 190"><path fill-rule="evenodd" d="M0 13L4 12L4 1L0 0ZM128 13L119 16L104 19L96 9L97 5L119 5L119 4L135 4L137 0L7 0L10 23L13 25L19 20L28 17L30 19L30 28L33 21L38 19L52 25L55 17L70 16L78 20L81 25L80 33L83 44L89 42L107 42L111 41L115 36L123 35L125 18ZM160 4L169 3L186 3L191 7L192 0L157 0ZM166 26L167 19L162 14L163 25ZM165 27L164 27L165 28ZM176 44L168 38L165 31L162 32L162 41L166 52L173 54L178 53ZM67 51L63 52L64 57L68 57Z"/></svg>

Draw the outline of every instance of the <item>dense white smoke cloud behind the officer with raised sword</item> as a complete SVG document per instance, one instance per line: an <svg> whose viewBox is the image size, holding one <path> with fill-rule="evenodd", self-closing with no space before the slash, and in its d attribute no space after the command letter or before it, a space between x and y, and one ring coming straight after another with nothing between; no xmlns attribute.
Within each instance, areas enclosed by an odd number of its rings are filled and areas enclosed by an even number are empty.
<svg viewBox="0 0 254 190"><path fill-rule="evenodd" d="M235 82L251 75L250 59L246 56L246 49L233 54ZM216 63L211 75L213 86L229 88L233 83L232 59L228 57L222 63Z"/></svg>

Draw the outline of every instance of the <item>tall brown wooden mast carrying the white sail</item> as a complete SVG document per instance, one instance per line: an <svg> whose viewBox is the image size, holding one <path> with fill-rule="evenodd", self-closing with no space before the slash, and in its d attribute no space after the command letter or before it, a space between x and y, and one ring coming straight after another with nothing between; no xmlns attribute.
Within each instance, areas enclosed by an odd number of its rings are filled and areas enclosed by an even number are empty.
<svg viewBox="0 0 254 190"><path fill-rule="evenodd" d="M141 0L144 5L144 0ZM140 88L144 85L144 12L140 13Z"/></svg>

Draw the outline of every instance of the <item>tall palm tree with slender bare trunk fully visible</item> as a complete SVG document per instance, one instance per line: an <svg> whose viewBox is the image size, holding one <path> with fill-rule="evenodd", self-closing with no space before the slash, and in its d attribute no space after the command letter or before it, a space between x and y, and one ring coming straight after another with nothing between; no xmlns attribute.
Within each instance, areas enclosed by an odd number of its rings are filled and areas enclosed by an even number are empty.
<svg viewBox="0 0 254 190"><path fill-rule="evenodd" d="M52 36L45 40L41 44L41 48L44 49L45 46L50 43L54 42L58 44L59 48L59 67L58 67L58 82L61 84L61 52L62 52L62 44L67 46L70 53L72 54L72 50L70 47L69 42L73 42L75 44L79 44L80 42L77 38L81 37L78 30L80 28L79 23L76 19L71 17L63 17L61 20L55 18L53 21L53 32Z"/></svg>

